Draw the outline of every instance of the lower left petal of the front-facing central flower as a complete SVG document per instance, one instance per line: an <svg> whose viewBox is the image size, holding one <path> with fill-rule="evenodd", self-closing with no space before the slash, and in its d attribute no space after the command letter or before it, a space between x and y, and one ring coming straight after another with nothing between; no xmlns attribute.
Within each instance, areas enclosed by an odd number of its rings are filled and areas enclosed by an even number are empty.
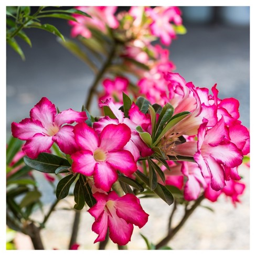
<svg viewBox="0 0 256 256"><path fill-rule="evenodd" d="M74 173L81 173L86 176L91 176L94 173L96 161L89 150L78 151L71 155L72 170Z"/></svg>

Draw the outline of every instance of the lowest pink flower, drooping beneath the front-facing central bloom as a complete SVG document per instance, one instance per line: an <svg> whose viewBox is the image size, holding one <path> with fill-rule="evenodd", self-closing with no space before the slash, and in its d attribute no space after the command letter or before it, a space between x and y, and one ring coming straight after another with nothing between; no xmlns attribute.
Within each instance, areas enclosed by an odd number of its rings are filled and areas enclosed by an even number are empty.
<svg viewBox="0 0 256 256"><path fill-rule="evenodd" d="M148 220L140 200L132 194L119 197L111 191L108 195L95 193L93 196L97 204L88 211L95 218L92 231L99 235L94 243L104 241L109 228L110 239L124 246L131 240L133 225L142 228Z"/></svg>

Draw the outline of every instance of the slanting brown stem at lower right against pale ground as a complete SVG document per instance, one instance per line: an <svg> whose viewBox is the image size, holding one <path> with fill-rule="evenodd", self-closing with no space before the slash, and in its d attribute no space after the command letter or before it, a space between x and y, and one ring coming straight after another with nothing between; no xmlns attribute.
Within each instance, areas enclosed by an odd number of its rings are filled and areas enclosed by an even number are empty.
<svg viewBox="0 0 256 256"><path fill-rule="evenodd" d="M201 195L194 203L193 206L191 206L189 209L185 210L185 214L178 223L178 225L175 228L170 228L167 236L162 239L160 242L156 244L156 249L161 248L162 246L165 246L174 236L175 234L182 228L182 226L185 224L187 221L188 217L194 212L194 210L200 205L201 201L204 200L204 195Z"/></svg>

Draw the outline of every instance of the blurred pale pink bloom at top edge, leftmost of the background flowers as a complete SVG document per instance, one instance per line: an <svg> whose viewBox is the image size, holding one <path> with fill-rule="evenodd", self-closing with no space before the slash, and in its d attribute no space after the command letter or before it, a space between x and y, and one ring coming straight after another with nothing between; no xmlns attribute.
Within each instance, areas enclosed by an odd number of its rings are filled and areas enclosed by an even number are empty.
<svg viewBox="0 0 256 256"><path fill-rule="evenodd" d="M72 20L69 22L73 26L71 29L72 37L81 35L90 38L90 27L97 28L106 33L106 26L110 28L118 28L119 26L119 22L114 16L117 6L79 6L77 9L88 13L92 18L74 14L73 16L77 19L77 22Z"/></svg>

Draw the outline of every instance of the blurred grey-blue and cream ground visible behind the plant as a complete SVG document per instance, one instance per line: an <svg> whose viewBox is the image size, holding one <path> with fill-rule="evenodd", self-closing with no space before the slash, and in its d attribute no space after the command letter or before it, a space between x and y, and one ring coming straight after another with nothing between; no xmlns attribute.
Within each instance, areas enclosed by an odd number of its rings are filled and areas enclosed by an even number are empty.
<svg viewBox="0 0 256 256"><path fill-rule="evenodd" d="M129 7L120 7L125 8ZM170 60L176 65L175 72L180 73L187 82L192 81L196 87L211 89L217 83L220 99L233 97L240 101L240 120L249 128L250 7L180 8L187 34L179 35L169 47ZM55 25L65 37L70 38L70 26L65 20L52 19L48 22ZM47 97L55 103L60 111L68 108L80 111L93 80L93 73L86 64L63 48L54 35L39 29L27 29L26 34L33 47L30 48L23 41L19 41L26 57L25 61L9 46L6 49L7 140L11 135L10 124L27 118L30 109L42 97ZM97 113L98 105L95 101L92 114ZM246 193L241 197L242 204L234 208L231 202L227 204L225 197L219 198L214 204L205 201L205 206L212 207L215 212L206 208L197 209L170 242L171 247L234 250L250 248L249 169L243 167L240 173L247 184ZM47 183L42 183L41 189L52 190ZM55 195L52 193L44 193L42 200L49 204L53 196ZM143 229L135 229L129 246L131 249L145 248L139 232L147 234L148 238L156 243L159 233L166 231L166 221L171 209L163 201L151 200L141 200L144 210L151 216ZM159 218L159 209L168 214ZM58 249L66 249L72 215L73 212L62 210L52 215L42 233L46 249L57 246ZM91 216L85 212L79 233L81 249L97 248L93 245L96 236L91 231L92 221ZM87 241L84 241L84 237L87 237ZM29 249L29 241L27 248L23 248L24 246L25 243L21 243L20 249Z"/></svg>

